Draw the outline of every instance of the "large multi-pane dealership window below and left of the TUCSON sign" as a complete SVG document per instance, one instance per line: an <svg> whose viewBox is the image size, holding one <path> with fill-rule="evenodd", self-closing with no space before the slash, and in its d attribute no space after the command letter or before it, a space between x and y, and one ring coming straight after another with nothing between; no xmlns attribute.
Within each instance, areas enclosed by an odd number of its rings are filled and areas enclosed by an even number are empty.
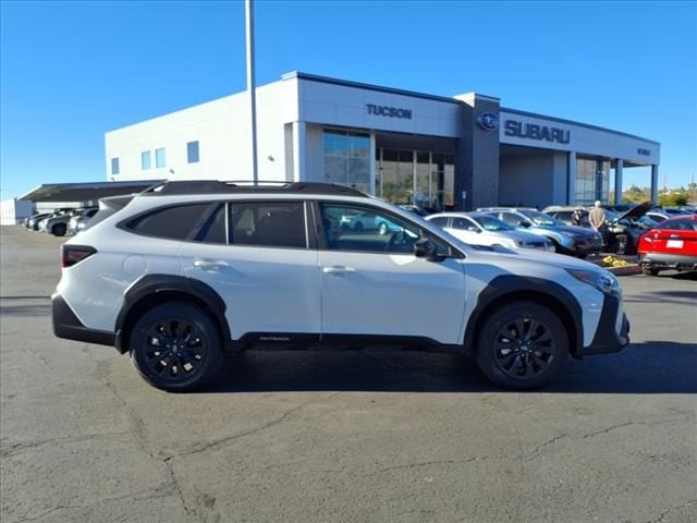
<svg viewBox="0 0 697 523"><path fill-rule="evenodd" d="M370 136L325 131L325 181L370 192Z"/></svg>

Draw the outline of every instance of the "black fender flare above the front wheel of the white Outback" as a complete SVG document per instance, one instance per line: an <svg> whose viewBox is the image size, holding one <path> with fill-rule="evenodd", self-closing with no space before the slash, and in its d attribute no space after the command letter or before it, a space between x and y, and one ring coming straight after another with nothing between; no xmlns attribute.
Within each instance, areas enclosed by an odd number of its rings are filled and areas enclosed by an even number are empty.
<svg viewBox="0 0 697 523"><path fill-rule="evenodd" d="M469 315L465 328L464 344L467 353L474 353L476 328L489 307L510 303L509 300L522 296L529 296L529 300L533 301L541 301L543 305L550 307L561 317L567 328L573 328L570 351L572 354L582 353L584 342L583 309L578 300L554 281L515 275L496 277L477 296L477 305Z"/></svg>

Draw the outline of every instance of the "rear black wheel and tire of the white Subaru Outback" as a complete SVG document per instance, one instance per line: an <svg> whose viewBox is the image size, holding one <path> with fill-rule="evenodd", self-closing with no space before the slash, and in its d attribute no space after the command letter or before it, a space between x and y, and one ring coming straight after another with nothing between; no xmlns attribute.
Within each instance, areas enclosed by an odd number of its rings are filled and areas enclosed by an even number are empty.
<svg viewBox="0 0 697 523"><path fill-rule="evenodd" d="M200 388L222 365L218 327L201 308L186 302L166 303L145 313L133 327L129 345L140 376L170 392Z"/></svg>

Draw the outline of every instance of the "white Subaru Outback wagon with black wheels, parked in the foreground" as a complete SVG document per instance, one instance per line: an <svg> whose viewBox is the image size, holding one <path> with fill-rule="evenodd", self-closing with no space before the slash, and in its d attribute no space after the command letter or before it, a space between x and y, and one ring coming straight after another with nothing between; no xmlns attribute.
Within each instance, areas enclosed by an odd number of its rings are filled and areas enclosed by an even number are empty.
<svg viewBox="0 0 697 523"><path fill-rule="evenodd" d="M168 182L101 207L62 247L54 333L129 352L164 390L260 342L456 351L516 389L628 343L604 269L467 245L350 187ZM359 212L394 227L345 227Z"/></svg>

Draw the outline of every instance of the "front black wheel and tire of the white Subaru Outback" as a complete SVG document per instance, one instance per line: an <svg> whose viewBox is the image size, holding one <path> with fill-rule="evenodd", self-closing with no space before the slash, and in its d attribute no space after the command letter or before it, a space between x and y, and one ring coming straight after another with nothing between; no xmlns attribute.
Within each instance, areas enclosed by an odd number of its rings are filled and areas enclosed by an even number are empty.
<svg viewBox="0 0 697 523"><path fill-rule="evenodd" d="M567 356L564 325L549 308L535 302L497 308L488 314L477 336L479 368L489 380L509 389L529 390L551 382Z"/></svg>

